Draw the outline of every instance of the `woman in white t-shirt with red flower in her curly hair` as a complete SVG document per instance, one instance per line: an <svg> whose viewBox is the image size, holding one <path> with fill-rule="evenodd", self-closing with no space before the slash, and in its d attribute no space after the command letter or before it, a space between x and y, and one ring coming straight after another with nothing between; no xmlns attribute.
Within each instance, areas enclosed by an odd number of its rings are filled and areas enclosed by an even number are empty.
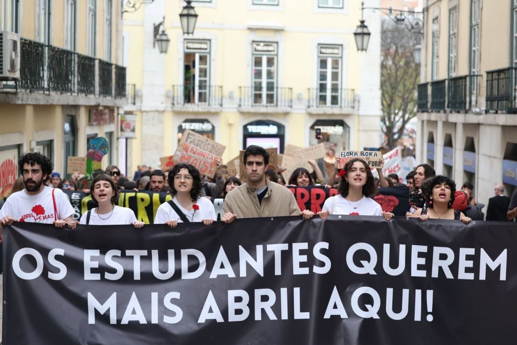
<svg viewBox="0 0 517 345"><path fill-rule="evenodd" d="M369 196L375 193L376 187L367 162L354 158L346 162L340 172L339 194L328 198L318 215L326 219L332 215L384 216L390 220L392 213L383 212L381 205Z"/></svg>

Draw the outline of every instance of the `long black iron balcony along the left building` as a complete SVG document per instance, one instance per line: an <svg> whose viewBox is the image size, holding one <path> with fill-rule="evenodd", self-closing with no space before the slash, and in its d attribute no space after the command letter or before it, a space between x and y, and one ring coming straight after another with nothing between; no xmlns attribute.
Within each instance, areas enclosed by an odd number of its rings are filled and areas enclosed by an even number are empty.
<svg viewBox="0 0 517 345"><path fill-rule="evenodd" d="M25 38L20 60L20 80L0 88L4 102L115 107L126 102L125 67Z"/></svg>

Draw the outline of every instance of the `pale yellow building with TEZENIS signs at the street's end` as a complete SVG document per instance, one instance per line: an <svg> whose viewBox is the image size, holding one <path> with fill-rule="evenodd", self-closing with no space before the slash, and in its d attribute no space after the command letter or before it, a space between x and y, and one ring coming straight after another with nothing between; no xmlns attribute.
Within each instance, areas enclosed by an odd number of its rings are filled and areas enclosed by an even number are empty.
<svg viewBox="0 0 517 345"><path fill-rule="evenodd" d="M124 14L124 57L134 84L136 138L128 167L157 167L174 154L181 133L195 130L226 146L223 161L247 145L380 143L380 19L365 11L372 33L358 52L360 4L349 0L194 1L193 35L179 21L185 2L155 0ZM367 1L364 6L378 6ZM169 49L153 47L163 21ZM125 60L126 61L126 60Z"/></svg>

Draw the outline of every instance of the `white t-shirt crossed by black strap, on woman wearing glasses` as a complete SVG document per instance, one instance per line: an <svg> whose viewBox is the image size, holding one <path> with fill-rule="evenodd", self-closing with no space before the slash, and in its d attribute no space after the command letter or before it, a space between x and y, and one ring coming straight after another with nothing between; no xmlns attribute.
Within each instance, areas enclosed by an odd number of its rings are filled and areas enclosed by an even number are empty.
<svg viewBox="0 0 517 345"><path fill-rule="evenodd" d="M172 201L178 205L178 208L181 212L187 217L188 220L191 222L195 221L202 221L203 219L217 219L216 216L216 210L214 209L214 204L205 197L201 197L197 199L197 206L199 206L199 209L194 212L193 209L190 211L187 211L185 208L181 207L178 200L176 199L176 196L172 198ZM193 219L192 219L193 217ZM174 209L169 205L168 202L164 202L163 204L158 207L158 211L156 211L155 216L155 224L165 224L168 220L175 220L178 223L182 223L181 219L179 219L178 214L174 211Z"/></svg>

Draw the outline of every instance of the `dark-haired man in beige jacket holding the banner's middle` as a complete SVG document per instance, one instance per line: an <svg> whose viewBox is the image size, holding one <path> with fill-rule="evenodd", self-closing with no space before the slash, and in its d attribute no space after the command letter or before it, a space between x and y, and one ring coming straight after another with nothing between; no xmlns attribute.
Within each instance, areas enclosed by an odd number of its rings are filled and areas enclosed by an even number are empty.
<svg viewBox="0 0 517 345"><path fill-rule="evenodd" d="M266 178L269 154L263 147L248 146L244 152L244 163L248 181L232 190L224 199L222 221L230 223L235 218L280 216L310 219L314 215L308 209L300 212L294 194Z"/></svg>

